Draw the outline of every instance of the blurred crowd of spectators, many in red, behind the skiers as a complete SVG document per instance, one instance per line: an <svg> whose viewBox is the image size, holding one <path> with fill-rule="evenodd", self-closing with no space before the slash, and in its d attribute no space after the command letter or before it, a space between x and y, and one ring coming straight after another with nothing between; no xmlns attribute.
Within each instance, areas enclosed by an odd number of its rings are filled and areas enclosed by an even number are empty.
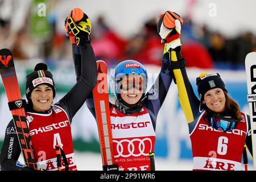
<svg viewBox="0 0 256 182"><path fill-rule="evenodd" d="M71 50L69 39L65 34L56 32L56 20L50 18L49 38L38 43L30 34L28 18L19 30L11 31L11 20L0 16L0 46L10 48L17 60L42 57L46 62L55 64L56 60L72 59L72 54L68 51ZM256 51L256 36L253 32L242 32L234 38L226 38L221 32L211 31L205 24L195 24L191 19L183 18L185 23L181 43L187 67L245 69L245 56ZM105 15L91 19L92 46L98 60L106 61L110 67L126 59L160 65L163 45L156 28L157 17L145 20L143 30L129 38L119 36L106 23Z"/></svg>

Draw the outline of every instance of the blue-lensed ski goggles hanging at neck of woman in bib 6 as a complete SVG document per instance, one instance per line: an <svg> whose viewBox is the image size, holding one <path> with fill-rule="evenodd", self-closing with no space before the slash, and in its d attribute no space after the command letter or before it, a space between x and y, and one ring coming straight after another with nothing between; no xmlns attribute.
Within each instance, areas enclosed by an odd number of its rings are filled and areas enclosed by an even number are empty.
<svg viewBox="0 0 256 182"><path fill-rule="evenodd" d="M210 118L210 126L216 130L230 131L237 127L237 121L236 119L221 117L213 113Z"/></svg>

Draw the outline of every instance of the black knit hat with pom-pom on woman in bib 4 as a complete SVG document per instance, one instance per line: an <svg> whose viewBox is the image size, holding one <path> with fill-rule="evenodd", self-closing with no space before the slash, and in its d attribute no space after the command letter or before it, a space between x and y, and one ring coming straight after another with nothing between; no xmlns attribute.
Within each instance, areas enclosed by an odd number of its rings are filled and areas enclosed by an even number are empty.
<svg viewBox="0 0 256 182"><path fill-rule="evenodd" d="M34 72L26 76L26 97L30 100L31 92L36 86L41 84L49 85L53 91L53 98L55 97L55 83L53 81L52 73L47 70L47 65L44 63L36 64Z"/></svg>

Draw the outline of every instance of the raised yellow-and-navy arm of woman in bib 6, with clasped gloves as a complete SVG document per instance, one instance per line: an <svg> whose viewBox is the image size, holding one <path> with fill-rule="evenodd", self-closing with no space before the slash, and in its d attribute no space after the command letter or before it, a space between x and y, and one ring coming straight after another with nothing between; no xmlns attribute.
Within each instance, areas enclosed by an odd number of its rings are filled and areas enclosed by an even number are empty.
<svg viewBox="0 0 256 182"><path fill-rule="evenodd" d="M179 92L179 101L187 122L193 122L200 115L200 101L197 99L185 70L185 60L181 55L180 32L183 20L172 11L166 11L158 23L162 41L170 52L171 68ZM196 61L196 60L195 60Z"/></svg>

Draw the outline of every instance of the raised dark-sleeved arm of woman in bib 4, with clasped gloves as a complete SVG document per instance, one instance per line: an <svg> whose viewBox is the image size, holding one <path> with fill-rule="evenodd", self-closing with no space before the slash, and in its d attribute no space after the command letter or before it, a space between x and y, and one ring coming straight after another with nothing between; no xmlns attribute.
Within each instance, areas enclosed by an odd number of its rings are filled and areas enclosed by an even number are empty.
<svg viewBox="0 0 256 182"><path fill-rule="evenodd" d="M73 9L66 21L66 31L73 44L73 62L77 83L56 105L67 111L71 121L96 85L97 68L94 51L90 45L91 26L88 16L81 9Z"/></svg>

